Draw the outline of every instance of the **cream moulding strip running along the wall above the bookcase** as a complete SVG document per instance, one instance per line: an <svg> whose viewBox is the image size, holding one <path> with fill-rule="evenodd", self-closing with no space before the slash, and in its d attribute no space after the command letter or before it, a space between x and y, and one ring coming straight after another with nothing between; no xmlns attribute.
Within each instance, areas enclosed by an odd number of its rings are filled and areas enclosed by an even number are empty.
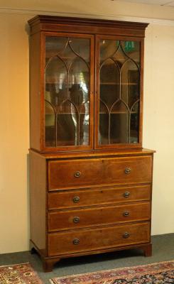
<svg viewBox="0 0 174 284"><path fill-rule="evenodd" d="M139 23L152 23L155 25L162 26L174 26L174 20L166 20L161 18L139 18L132 16L121 16L114 14L99 14L99 13L66 13L66 12L55 12L55 11L43 11L35 9L18 9L9 7L0 7L0 13L14 13L14 14L25 14L25 15L48 15L48 16L68 16L68 17L79 17L79 18L99 18L104 20L115 20L115 21L131 21Z"/></svg>

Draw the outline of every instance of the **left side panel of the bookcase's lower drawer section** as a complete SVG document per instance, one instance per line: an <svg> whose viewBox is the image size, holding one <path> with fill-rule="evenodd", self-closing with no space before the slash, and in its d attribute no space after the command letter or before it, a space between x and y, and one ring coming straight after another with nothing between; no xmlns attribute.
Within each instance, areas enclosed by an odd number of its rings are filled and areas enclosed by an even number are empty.
<svg viewBox="0 0 174 284"><path fill-rule="evenodd" d="M46 162L36 153L30 153L30 215L31 241L45 255Z"/></svg>

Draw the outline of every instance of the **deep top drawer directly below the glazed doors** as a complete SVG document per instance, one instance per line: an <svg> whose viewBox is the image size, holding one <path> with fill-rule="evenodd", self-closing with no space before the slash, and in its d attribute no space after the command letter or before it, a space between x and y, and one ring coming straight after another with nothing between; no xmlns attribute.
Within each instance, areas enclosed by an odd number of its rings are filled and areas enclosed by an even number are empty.
<svg viewBox="0 0 174 284"><path fill-rule="evenodd" d="M138 157L50 160L48 189L151 182L151 155Z"/></svg>

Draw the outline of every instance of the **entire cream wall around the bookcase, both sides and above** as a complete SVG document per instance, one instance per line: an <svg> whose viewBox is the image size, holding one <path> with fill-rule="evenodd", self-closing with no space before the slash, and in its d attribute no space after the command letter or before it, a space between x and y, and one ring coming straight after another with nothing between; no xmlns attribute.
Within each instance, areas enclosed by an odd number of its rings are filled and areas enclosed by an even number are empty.
<svg viewBox="0 0 174 284"><path fill-rule="evenodd" d="M42 11L72 13L72 16L95 14L98 18L134 16L174 20L174 9L169 7L125 4L123 1L16 0L14 3L11 0L6 3L1 0L0 253L28 250L27 21ZM152 234L174 233L174 22L166 21L165 25L150 24L145 45L143 146L157 151Z"/></svg>

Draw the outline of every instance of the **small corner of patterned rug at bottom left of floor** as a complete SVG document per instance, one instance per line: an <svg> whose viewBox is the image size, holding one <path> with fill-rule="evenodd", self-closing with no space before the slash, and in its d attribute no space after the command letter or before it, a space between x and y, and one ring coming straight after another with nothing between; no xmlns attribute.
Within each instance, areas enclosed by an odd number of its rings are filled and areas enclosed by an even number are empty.
<svg viewBox="0 0 174 284"><path fill-rule="evenodd" d="M43 284L29 263L0 266L0 284Z"/></svg>

